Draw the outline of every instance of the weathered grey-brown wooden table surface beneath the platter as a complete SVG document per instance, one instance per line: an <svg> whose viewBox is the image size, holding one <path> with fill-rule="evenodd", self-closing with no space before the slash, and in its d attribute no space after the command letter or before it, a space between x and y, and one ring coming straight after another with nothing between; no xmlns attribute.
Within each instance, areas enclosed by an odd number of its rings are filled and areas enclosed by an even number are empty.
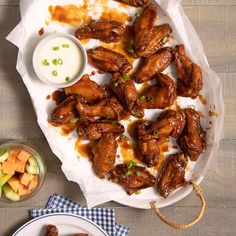
<svg viewBox="0 0 236 236"><path fill-rule="evenodd" d="M41 191L33 199L8 205L0 203L0 235L11 235L29 219L28 210L44 207L54 193L81 204L85 199L77 184L68 182L59 160L52 154L40 128L28 92L15 69L17 48L5 40L20 21L18 0L0 0L0 139L30 141L47 154L48 172ZM138 235L236 235L236 0L184 0L184 9L197 29L211 67L219 74L226 105L224 138L218 155L219 170L201 183L207 202L202 221L177 231L162 223L151 210L132 209L114 202L117 222ZM184 223L199 210L194 193L162 209L176 222Z"/></svg>

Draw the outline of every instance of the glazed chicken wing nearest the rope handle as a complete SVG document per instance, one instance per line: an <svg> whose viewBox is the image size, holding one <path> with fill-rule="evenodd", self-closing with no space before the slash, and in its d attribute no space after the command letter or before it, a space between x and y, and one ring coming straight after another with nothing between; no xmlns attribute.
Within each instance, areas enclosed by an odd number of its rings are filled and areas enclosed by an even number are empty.
<svg viewBox="0 0 236 236"><path fill-rule="evenodd" d="M188 159L184 154L173 154L166 160L157 178L157 191L167 198L174 190L187 185L185 167Z"/></svg>

